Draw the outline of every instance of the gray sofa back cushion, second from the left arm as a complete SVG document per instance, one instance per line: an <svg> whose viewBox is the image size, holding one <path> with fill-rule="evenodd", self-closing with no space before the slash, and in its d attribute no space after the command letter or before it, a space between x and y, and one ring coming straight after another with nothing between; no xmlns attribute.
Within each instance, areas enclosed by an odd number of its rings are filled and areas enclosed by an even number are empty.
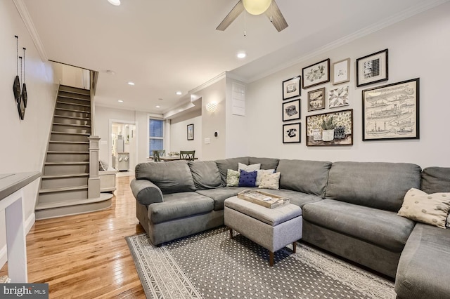
<svg viewBox="0 0 450 299"><path fill-rule="evenodd" d="M219 168L214 161L189 161L195 189L213 189L221 187Z"/></svg>

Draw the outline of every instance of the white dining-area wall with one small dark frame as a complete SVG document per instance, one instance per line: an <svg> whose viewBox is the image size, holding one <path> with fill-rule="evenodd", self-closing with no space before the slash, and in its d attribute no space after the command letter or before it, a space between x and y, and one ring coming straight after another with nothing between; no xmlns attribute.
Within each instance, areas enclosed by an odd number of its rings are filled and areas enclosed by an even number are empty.
<svg viewBox="0 0 450 299"><path fill-rule="evenodd" d="M202 111L195 110L170 122L170 152L195 150L195 157L202 159ZM194 125L194 140L187 138L188 124ZM168 152L166 152L168 154Z"/></svg>

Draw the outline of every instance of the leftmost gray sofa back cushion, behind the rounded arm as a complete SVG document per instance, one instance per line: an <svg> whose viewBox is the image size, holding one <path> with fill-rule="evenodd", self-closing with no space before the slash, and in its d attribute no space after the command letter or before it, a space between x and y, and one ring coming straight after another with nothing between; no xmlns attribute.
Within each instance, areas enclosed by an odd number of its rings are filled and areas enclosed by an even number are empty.
<svg viewBox="0 0 450 299"><path fill-rule="evenodd" d="M157 185L163 194L195 191L188 161L147 162L136 165L136 179Z"/></svg>

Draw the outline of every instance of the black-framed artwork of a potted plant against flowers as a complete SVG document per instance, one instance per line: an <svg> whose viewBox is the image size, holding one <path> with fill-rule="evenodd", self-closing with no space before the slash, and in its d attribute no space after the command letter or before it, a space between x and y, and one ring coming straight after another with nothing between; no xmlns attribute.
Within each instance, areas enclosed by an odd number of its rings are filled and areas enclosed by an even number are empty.
<svg viewBox="0 0 450 299"><path fill-rule="evenodd" d="M353 109L307 116L307 146L353 145Z"/></svg>

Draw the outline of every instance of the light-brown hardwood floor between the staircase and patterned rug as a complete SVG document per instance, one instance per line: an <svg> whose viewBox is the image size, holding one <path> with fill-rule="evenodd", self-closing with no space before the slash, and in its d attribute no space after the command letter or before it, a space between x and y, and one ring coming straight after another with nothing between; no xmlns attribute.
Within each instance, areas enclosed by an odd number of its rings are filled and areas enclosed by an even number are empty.
<svg viewBox="0 0 450 299"><path fill-rule="evenodd" d="M117 178L104 211L37 220L27 235L28 281L49 284L49 298L146 298L124 239L143 232L132 178Z"/></svg>

